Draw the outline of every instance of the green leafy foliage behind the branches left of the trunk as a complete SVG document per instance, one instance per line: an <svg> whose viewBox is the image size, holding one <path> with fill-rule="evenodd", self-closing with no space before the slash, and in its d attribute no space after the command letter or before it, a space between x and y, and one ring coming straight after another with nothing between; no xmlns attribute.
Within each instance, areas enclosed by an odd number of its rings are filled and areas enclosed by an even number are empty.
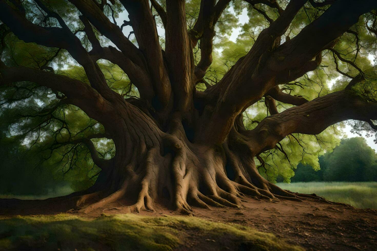
<svg viewBox="0 0 377 251"><path fill-rule="evenodd" d="M49 1L48 6L61 13L70 29L81 29L82 24L77 23L77 10L61 2ZM25 8L34 11L31 16L35 22L41 22L41 12L33 6L30 3ZM39 24L56 26L56 22L52 25L50 21ZM83 44L87 43L86 39L82 39ZM2 60L7 65L32 68L51 65L55 73L89 84L83 67L78 66L65 50L25 43L12 33L5 37L5 42L8 46ZM110 88L124 97L139 97L138 90L118 65L104 60L98 64ZM4 160L0 194L3 197L57 196L83 190L95 182L100 168L93 163L86 145L79 141L103 133L104 128L80 108L66 105L61 99L64 99L62 93L30 82L0 88L0 157ZM92 141L100 157L110 159L115 155L112 140L93 138Z"/></svg>

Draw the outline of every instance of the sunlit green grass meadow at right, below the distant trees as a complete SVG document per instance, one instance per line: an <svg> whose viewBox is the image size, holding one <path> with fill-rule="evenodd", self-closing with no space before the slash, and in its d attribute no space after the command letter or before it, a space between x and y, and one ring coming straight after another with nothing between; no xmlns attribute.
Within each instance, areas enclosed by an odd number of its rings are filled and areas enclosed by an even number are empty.
<svg viewBox="0 0 377 251"><path fill-rule="evenodd" d="M354 207L377 209L377 182L297 182L277 186L292 192L316 193Z"/></svg>

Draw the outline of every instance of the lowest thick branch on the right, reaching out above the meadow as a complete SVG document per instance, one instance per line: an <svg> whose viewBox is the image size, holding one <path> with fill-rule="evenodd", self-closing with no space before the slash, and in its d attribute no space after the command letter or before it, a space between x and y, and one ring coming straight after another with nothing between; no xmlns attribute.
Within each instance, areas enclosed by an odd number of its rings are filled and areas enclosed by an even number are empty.
<svg viewBox="0 0 377 251"><path fill-rule="evenodd" d="M258 145L259 154L273 149L285 136L293 133L316 135L328 126L343 120L355 119L370 122L377 119L377 103L370 103L352 91L338 91L318 97L282 113L266 117L251 131L244 132L249 141Z"/></svg>

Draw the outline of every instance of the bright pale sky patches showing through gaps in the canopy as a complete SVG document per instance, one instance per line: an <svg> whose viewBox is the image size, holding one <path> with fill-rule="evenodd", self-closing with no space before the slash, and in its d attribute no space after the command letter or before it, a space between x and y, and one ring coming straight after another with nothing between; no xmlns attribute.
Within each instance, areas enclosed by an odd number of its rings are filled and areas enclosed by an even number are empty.
<svg viewBox="0 0 377 251"><path fill-rule="evenodd" d="M230 10L231 10L231 12L234 12L232 6L230 7ZM117 22L117 24L120 26L121 24L123 24L123 20L128 20L128 18L127 18L128 14L127 14L127 12L123 12L123 13L120 14L119 16L120 16L120 17L116 19L116 22ZM246 10L246 8L242 11L242 14L239 15L238 18L239 18L239 24L241 24L241 25L242 25L242 24L245 24L246 22L249 21L249 18L248 18L248 16L247 16L247 10ZM164 34L165 34L165 30L164 30L163 28L161 28L161 27L157 27L157 30L158 30L158 35L159 35L159 36L164 36ZM132 28L131 28L130 26L126 26L126 27L123 28L123 33L124 33L126 36L129 35L130 31L132 31ZM231 41L235 42L236 39L237 39L237 37L238 37L238 35L239 35L239 33L240 33L240 31L241 31L241 27L233 28L233 32L232 32L232 34L230 35L229 39L230 39ZM130 39L132 39L132 38L133 38L133 34L130 36ZM374 56L373 56L373 55L369 55L369 60L371 61L372 64L374 64L374 61L373 61L373 60L374 60ZM338 77L338 78L340 78L340 77ZM337 79L332 79L332 80L329 82L329 87L330 87L330 88L333 86L333 84L336 82L336 80L337 80ZM344 128L344 132L346 133L346 135L347 135L349 138L351 138L351 137L359 137L359 135L357 135L357 134L353 134L353 133L351 132L351 126L349 126L349 125L346 125L346 127ZM372 136L372 137L369 137L369 138L367 138L367 137L365 137L365 138L366 138L366 142L368 143L368 145L369 145L371 148L373 148L373 149L377 152L377 144L375 144L375 143L373 142L374 137Z"/></svg>

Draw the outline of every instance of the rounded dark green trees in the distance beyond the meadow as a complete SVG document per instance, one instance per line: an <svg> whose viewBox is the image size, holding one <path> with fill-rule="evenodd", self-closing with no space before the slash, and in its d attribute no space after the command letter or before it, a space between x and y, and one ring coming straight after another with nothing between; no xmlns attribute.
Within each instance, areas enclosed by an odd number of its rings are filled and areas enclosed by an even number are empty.
<svg viewBox="0 0 377 251"><path fill-rule="evenodd" d="M319 164L320 170L314 170L300 163L291 182L377 181L377 153L362 137L343 139L333 152L319 157Z"/></svg>

